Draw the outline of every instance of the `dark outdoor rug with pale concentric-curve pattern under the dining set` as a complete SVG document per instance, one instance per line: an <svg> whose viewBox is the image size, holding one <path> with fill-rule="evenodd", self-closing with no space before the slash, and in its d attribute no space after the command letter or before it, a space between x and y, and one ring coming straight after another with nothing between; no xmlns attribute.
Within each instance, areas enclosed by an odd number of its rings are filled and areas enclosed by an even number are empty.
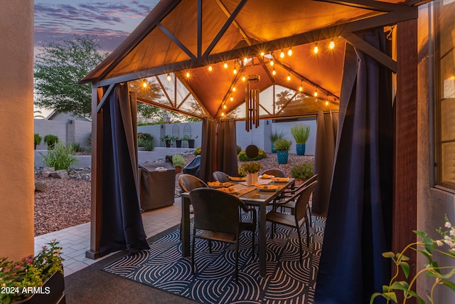
<svg viewBox="0 0 455 304"><path fill-rule="evenodd" d="M124 256L103 270L200 303L314 303L324 225L325 219L314 217L309 247L306 234L302 237L302 265L296 229L277 225L277 233L270 239L271 226L267 223L265 278L259 276L257 249L252 257L251 232L242 233L238 284L235 283L235 245L213 241L209 253L208 242L197 239L193 275L191 258L181 256L178 229L151 243L149 251Z"/></svg>

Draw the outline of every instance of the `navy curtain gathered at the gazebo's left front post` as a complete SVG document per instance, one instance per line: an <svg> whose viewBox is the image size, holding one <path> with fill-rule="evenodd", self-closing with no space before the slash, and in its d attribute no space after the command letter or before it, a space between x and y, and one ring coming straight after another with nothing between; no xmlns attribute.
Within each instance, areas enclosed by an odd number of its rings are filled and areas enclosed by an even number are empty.
<svg viewBox="0 0 455 304"><path fill-rule="evenodd" d="M102 108L102 221L100 253L147 250L139 204L137 100L116 85Z"/></svg>

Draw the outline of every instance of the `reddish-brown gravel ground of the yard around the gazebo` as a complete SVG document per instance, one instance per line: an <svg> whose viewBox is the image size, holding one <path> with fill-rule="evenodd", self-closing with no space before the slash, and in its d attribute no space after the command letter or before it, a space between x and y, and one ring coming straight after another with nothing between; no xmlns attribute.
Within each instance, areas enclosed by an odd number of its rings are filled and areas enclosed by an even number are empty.
<svg viewBox="0 0 455 304"><path fill-rule="evenodd" d="M188 153L183 157L188 164L194 155ZM282 169L288 176L295 164L313 161L312 155L289 154L287 164L278 164L277 154L271 153L259 160L265 169ZM176 196L180 192L179 175L176 174ZM90 221L90 168L69 172L69 176L68 179L43 177L41 170L36 169L35 181L44 181L47 188L44 192L35 192L35 236Z"/></svg>

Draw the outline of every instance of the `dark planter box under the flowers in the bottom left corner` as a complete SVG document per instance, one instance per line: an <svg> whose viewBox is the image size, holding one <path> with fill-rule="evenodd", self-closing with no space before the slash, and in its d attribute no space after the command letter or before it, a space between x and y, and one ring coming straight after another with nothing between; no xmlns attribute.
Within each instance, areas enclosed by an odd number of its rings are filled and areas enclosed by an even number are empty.
<svg viewBox="0 0 455 304"><path fill-rule="evenodd" d="M63 273L55 272L47 278L41 288L40 293L33 293L31 297L24 300L13 302L14 304L65 304L65 279Z"/></svg>

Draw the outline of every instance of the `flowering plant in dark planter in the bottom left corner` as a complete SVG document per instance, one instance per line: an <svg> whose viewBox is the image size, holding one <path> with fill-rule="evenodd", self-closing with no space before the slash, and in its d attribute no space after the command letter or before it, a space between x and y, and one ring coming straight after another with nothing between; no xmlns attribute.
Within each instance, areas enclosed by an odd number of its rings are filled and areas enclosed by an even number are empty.
<svg viewBox="0 0 455 304"><path fill-rule="evenodd" d="M0 258L0 303L65 303L62 248L55 239L48 245L21 261Z"/></svg>

